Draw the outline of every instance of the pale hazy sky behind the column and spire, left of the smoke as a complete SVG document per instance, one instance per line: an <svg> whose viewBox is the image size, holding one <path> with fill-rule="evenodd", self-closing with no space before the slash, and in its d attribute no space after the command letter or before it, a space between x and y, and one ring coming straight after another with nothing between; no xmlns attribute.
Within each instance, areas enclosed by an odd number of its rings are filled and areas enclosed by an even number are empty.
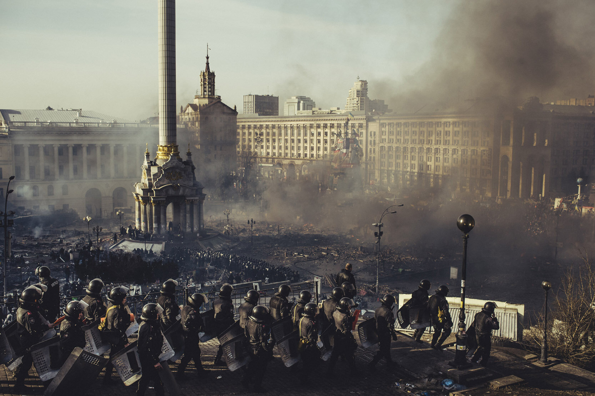
<svg viewBox="0 0 595 396"><path fill-rule="evenodd" d="M130 120L157 111L156 0L0 0L0 108L83 108ZM447 1L178 0L177 100L192 102L209 43L217 95L345 107L431 55Z"/></svg>

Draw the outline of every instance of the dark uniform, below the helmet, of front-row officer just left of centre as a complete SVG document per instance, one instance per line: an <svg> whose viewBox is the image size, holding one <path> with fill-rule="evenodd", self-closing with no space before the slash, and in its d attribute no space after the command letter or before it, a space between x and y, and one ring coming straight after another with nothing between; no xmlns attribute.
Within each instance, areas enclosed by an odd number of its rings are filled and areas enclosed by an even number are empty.
<svg viewBox="0 0 595 396"><path fill-rule="evenodd" d="M261 388L267 364L273 356L273 343L269 342L271 329L264 323L256 323L250 319L244 329L248 339L248 350L252 356L248 371L254 381L255 389Z"/></svg>

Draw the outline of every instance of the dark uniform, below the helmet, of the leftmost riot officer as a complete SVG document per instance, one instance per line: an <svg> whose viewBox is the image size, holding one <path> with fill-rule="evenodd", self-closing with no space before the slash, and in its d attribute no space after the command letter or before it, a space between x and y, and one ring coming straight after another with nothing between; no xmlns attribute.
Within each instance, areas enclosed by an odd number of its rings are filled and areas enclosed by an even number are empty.
<svg viewBox="0 0 595 396"><path fill-rule="evenodd" d="M17 334L21 348L24 350L23 360L17 367L15 379L17 386L24 386L25 378L29 376L29 369L33 365L30 348L37 344L43 333L49 330L47 323L40 317L36 309L17 309Z"/></svg>

